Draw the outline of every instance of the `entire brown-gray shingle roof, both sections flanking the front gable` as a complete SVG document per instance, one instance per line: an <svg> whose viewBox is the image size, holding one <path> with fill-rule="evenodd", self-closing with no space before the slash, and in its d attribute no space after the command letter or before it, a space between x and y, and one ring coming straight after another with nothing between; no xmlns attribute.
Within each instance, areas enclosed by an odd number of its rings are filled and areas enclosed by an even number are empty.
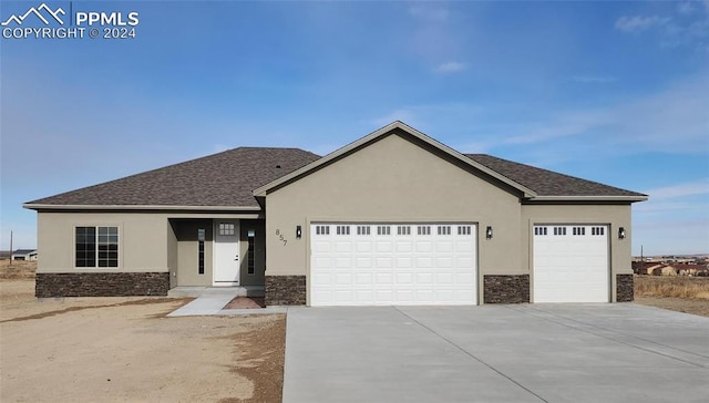
<svg viewBox="0 0 709 403"><path fill-rule="evenodd" d="M486 154L465 156L537 196L645 196ZM28 205L258 207L254 189L319 158L299 148L239 147Z"/></svg>

